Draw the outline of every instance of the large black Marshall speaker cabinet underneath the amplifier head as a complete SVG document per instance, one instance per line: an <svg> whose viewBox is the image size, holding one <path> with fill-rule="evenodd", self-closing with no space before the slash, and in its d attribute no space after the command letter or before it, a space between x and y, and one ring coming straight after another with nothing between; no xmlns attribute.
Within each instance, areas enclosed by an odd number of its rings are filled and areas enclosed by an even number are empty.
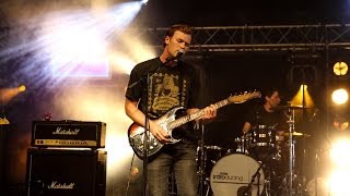
<svg viewBox="0 0 350 196"><path fill-rule="evenodd" d="M30 148L26 196L105 196L106 157L103 150Z"/></svg>

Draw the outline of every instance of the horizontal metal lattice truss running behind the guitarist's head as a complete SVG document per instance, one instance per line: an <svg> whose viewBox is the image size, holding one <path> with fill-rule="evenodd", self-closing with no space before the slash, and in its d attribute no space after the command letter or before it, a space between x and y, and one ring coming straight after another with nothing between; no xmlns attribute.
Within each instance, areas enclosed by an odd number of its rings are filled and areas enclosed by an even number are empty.
<svg viewBox="0 0 350 196"><path fill-rule="evenodd" d="M149 47L162 48L167 28L132 28L128 33ZM195 27L192 51L281 51L350 47L350 24Z"/></svg>

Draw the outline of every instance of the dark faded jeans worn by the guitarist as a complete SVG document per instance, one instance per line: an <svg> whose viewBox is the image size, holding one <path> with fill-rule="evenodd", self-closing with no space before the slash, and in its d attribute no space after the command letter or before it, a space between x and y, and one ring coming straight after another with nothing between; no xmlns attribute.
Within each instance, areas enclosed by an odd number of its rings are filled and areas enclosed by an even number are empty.
<svg viewBox="0 0 350 196"><path fill-rule="evenodd" d="M170 171L174 170L178 196L196 196L198 188L196 145L179 142L166 146L148 163L150 196L167 196Z"/></svg>

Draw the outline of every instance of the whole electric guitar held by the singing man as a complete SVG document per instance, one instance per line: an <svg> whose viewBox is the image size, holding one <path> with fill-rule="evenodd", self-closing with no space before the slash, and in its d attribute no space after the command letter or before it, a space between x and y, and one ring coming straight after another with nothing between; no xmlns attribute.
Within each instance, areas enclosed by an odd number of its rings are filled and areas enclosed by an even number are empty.
<svg viewBox="0 0 350 196"><path fill-rule="evenodd" d="M229 98L221 100L217 103L213 103L213 107L215 109L219 109L221 107L224 107L230 103L242 103L253 98L259 98L261 97L260 91L253 91L253 93L243 93L240 95L230 96ZM176 119L176 112L180 109L184 109L184 107L175 107L171 110L168 110L165 114L163 114L161 118L154 120L166 133L170 135L170 143L162 144L160 143L151 132L149 132L149 137L147 139L147 157L151 158L155 156L163 147L164 145L168 144L175 144L178 143L180 139L175 139L172 136L172 131L187 122L190 122L192 120L199 119L202 115L205 115L205 109L200 109L195 113L187 114L185 117L180 117ZM132 123L129 126L128 130L128 137L131 148L133 149L135 154L140 158L143 159L143 137L145 134L145 128L138 125L137 123Z"/></svg>

